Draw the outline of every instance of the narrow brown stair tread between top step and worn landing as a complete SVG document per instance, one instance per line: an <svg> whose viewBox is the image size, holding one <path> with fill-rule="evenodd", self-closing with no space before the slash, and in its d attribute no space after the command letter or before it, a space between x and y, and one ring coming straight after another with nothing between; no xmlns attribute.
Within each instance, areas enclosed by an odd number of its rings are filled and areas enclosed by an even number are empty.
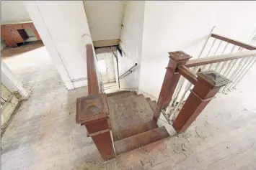
<svg viewBox="0 0 256 170"><path fill-rule="evenodd" d="M119 141L123 138L128 138L139 133L144 133L150 131L154 128L158 128L155 121L151 120L147 123L137 124L134 126L129 126L127 128L120 129L118 132L113 134L114 141Z"/></svg>

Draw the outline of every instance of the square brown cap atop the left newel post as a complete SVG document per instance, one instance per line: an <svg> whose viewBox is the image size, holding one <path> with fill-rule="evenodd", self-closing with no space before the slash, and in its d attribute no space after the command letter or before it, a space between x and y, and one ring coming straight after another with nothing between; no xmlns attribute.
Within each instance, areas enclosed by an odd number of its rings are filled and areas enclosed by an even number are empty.
<svg viewBox="0 0 256 170"><path fill-rule="evenodd" d="M104 93L76 99L76 123L94 123L108 118L109 108Z"/></svg>

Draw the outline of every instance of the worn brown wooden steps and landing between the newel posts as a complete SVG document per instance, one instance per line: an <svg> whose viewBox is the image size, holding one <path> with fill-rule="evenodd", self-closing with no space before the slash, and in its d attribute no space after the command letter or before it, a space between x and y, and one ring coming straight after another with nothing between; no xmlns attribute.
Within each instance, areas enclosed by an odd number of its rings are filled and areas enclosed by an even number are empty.
<svg viewBox="0 0 256 170"><path fill-rule="evenodd" d="M115 154L149 145L167 138L169 133L153 120L156 102L136 92L107 94Z"/></svg>

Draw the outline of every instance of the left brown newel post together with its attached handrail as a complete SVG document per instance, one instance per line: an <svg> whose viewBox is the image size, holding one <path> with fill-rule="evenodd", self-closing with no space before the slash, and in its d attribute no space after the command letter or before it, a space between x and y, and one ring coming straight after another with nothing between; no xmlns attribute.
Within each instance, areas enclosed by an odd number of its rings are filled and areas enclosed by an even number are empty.
<svg viewBox="0 0 256 170"><path fill-rule="evenodd" d="M102 159L115 158L107 95L102 91L102 83L94 60L92 44L87 44L88 96L76 100L76 123L86 126L87 133L97 146Z"/></svg>

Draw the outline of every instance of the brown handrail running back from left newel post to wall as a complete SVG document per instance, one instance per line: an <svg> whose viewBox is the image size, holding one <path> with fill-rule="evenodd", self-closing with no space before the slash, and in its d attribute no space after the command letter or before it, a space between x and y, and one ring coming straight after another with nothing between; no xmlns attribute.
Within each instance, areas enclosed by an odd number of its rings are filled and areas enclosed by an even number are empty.
<svg viewBox="0 0 256 170"><path fill-rule="evenodd" d="M92 44L87 44L87 84L88 95L100 93L99 80L97 77Z"/></svg>

